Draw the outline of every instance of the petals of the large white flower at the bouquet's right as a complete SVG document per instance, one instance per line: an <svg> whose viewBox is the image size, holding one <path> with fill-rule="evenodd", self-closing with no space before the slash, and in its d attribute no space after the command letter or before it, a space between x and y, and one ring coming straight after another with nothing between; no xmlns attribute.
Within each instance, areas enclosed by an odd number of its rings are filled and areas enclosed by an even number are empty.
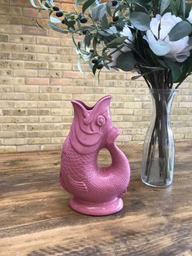
<svg viewBox="0 0 192 256"><path fill-rule="evenodd" d="M171 12L167 12L163 16L158 14L151 19L150 29L146 31L146 36L144 37L149 42L149 45L159 41L167 42L169 50L164 57L177 62L185 61L190 56L190 50L192 49L192 46L189 45L188 36L175 42L169 41L168 33L180 21L181 18L172 15Z"/></svg>

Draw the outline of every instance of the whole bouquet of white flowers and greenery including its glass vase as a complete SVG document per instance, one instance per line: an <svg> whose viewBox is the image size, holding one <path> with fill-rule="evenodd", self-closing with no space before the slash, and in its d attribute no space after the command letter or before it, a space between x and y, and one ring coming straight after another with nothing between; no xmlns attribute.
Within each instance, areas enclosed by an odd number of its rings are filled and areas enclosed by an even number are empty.
<svg viewBox="0 0 192 256"><path fill-rule="evenodd" d="M192 73L192 8L185 0L76 0L74 11L52 0L29 0L49 12L50 28L71 33L81 61L94 75L103 68L137 72L153 102L143 149L142 181L172 183L174 140L169 121L177 88ZM78 35L76 37L76 34Z"/></svg>

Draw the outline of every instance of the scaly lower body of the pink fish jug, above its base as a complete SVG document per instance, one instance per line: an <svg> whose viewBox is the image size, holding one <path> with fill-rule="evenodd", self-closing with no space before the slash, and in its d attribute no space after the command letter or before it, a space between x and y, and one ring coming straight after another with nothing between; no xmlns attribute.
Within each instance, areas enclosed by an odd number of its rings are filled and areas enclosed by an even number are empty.
<svg viewBox="0 0 192 256"><path fill-rule="evenodd" d="M60 182L68 192L82 201L111 201L114 196L123 196L129 183L129 165L120 161L118 169L110 166L98 169L93 165L98 153L79 154L67 138L63 145ZM117 157L117 156L116 156ZM118 157L124 157L118 152Z"/></svg>

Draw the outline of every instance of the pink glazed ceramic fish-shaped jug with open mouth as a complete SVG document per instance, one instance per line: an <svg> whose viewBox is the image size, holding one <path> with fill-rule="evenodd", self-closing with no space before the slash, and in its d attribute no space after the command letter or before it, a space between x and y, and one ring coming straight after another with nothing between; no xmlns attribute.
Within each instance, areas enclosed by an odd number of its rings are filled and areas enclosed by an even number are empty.
<svg viewBox="0 0 192 256"><path fill-rule="evenodd" d="M107 95L90 108L72 100L74 118L63 143L59 181L72 194L71 208L82 214L120 211L129 184L129 161L115 143L120 132L111 123L110 101ZM111 166L98 167L102 148L110 152Z"/></svg>

